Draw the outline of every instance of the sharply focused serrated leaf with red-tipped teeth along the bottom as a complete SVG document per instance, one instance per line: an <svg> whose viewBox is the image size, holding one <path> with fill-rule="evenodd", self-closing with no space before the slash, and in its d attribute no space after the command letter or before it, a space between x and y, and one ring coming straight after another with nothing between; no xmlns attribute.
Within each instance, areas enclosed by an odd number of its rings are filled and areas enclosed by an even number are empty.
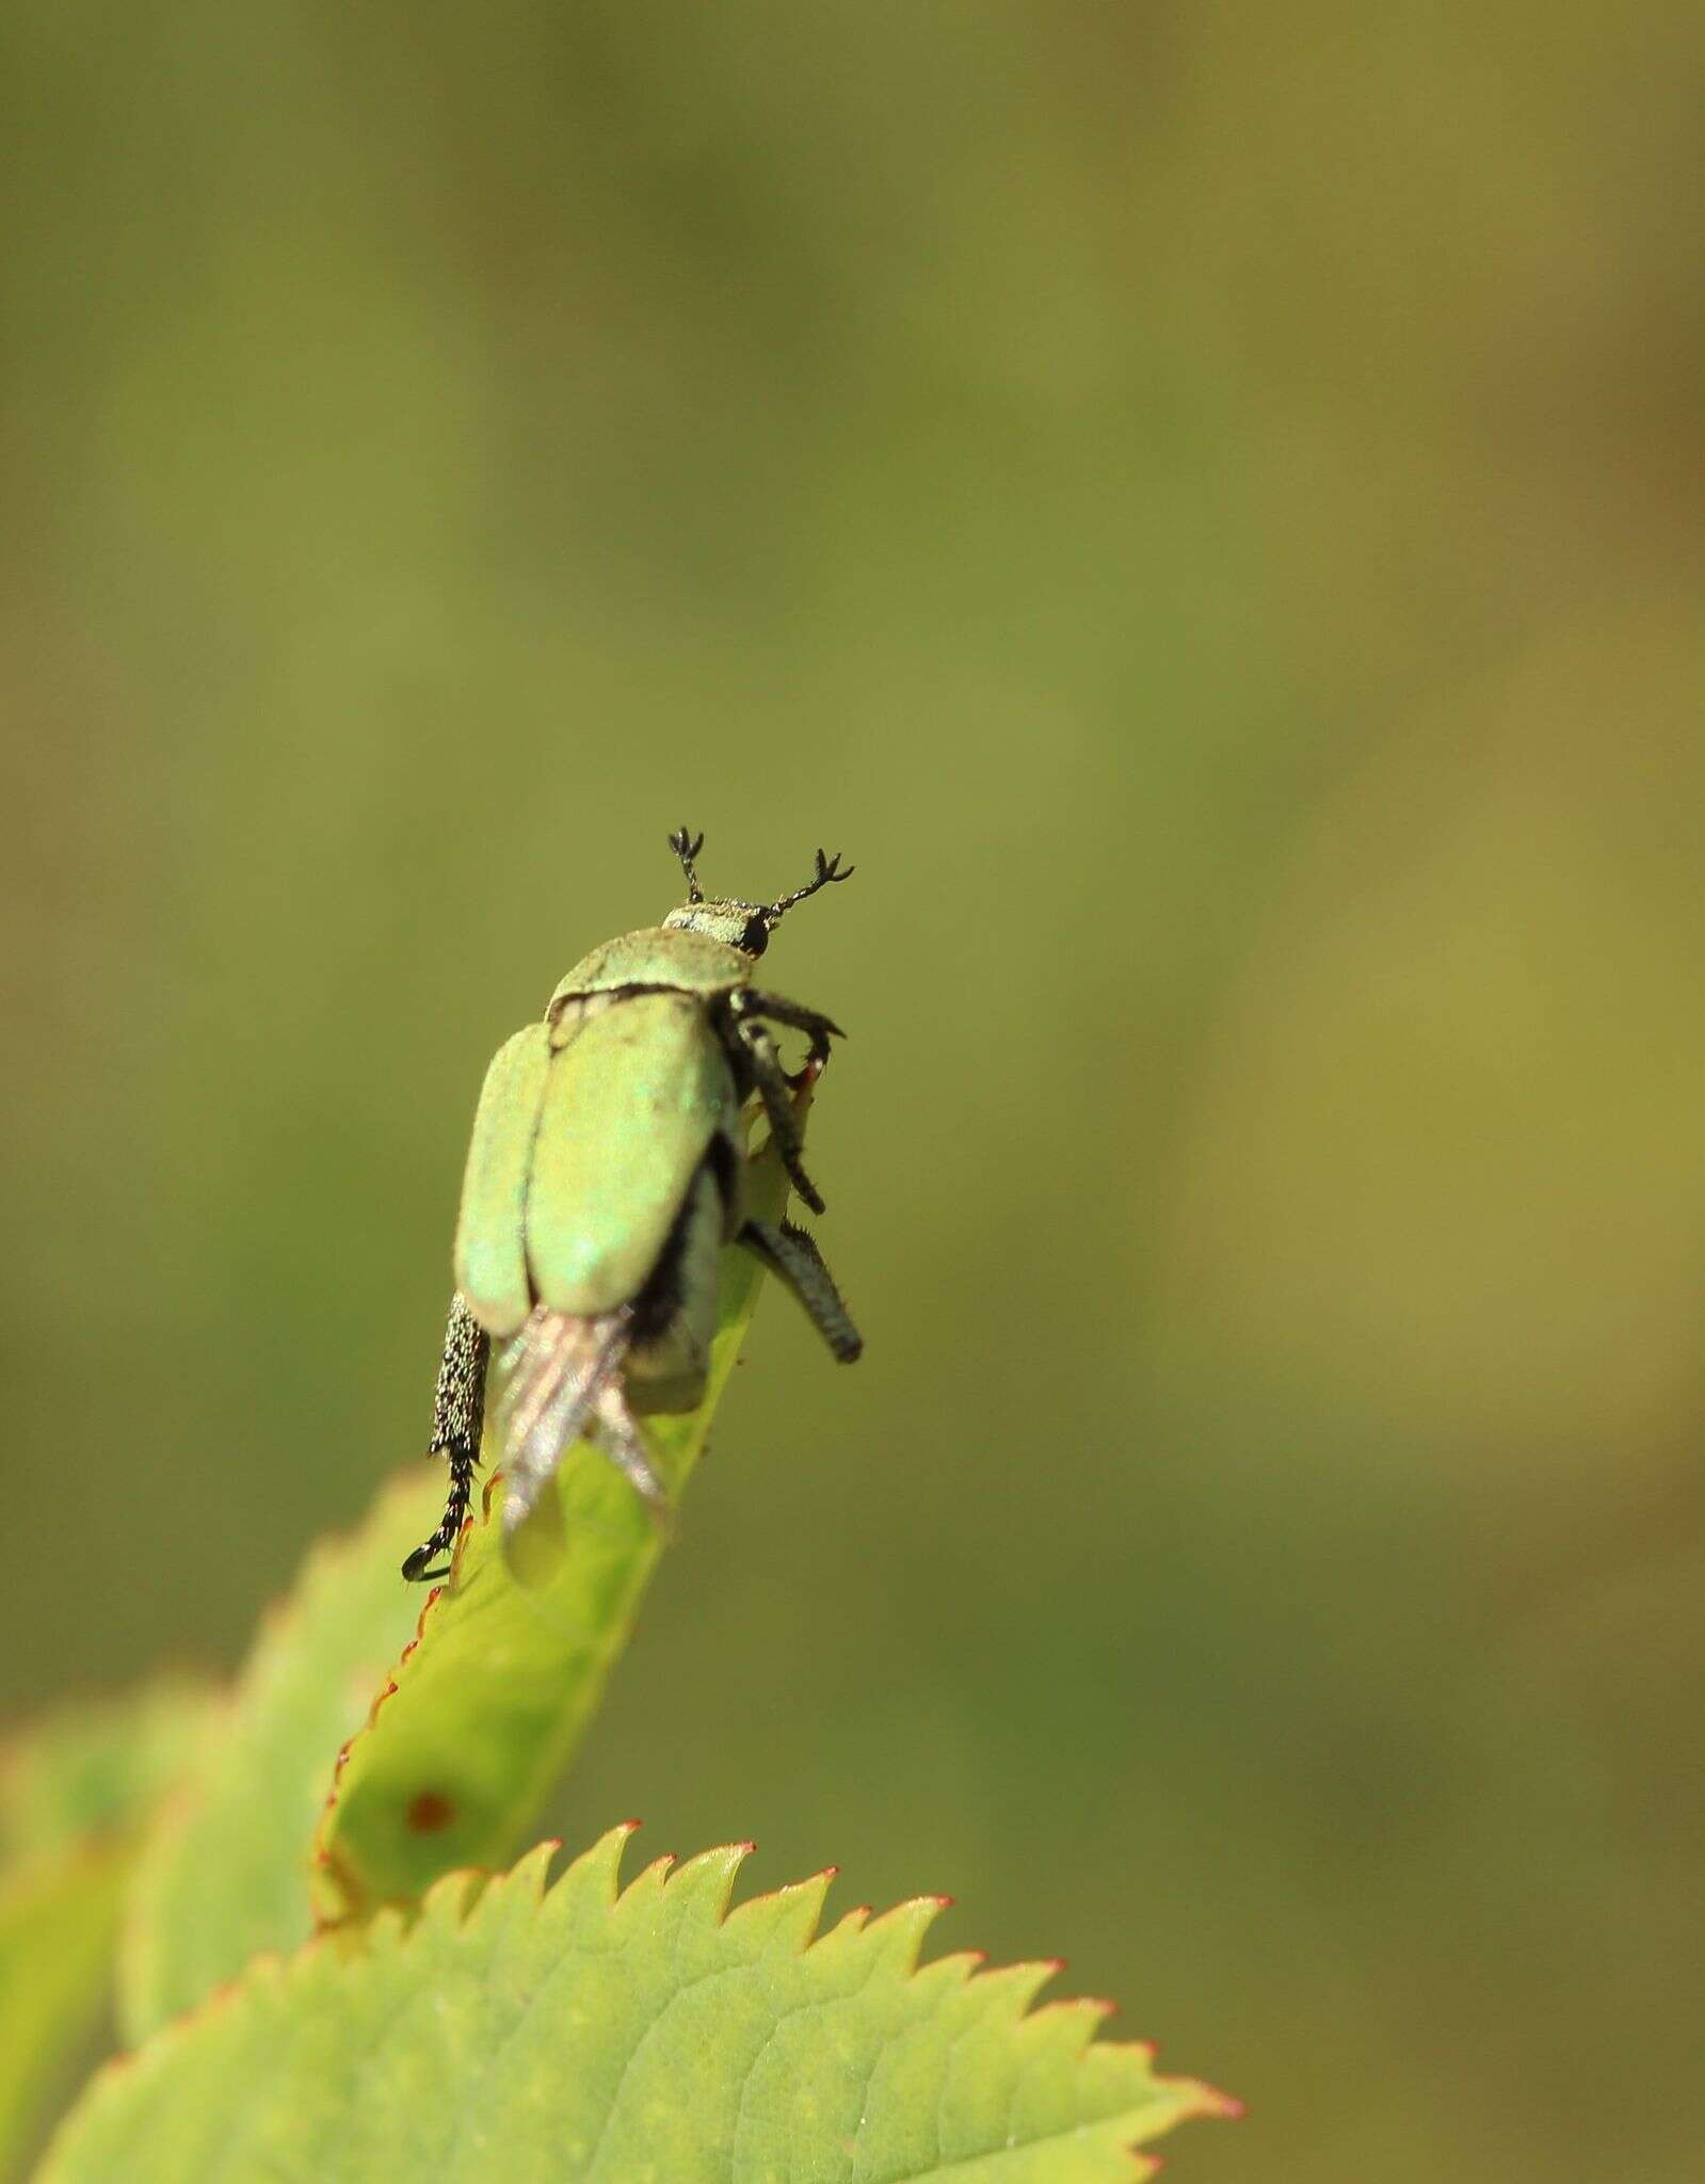
<svg viewBox="0 0 1705 2184"><path fill-rule="evenodd" d="M255 1966L96 2079L37 2184L1122 2184L1231 2108L1098 2042L1105 2003L1030 2011L1054 1966L919 1970L941 1898L814 1939L827 1874L729 1913L736 1845L618 1894L627 1832Z"/></svg>

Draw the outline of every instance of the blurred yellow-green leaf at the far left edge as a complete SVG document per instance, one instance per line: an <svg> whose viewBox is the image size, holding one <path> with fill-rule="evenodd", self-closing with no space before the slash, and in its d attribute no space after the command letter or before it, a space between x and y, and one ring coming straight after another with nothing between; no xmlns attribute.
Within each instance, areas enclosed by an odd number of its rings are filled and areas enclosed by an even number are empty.
<svg viewBox="0 0 1705 2184"><path fill-rule="evenodd" d="M142 1817L207 1714L203 1690L159 1686L55 1714L0 1758L0 2177L100 2022Z"/></svg>

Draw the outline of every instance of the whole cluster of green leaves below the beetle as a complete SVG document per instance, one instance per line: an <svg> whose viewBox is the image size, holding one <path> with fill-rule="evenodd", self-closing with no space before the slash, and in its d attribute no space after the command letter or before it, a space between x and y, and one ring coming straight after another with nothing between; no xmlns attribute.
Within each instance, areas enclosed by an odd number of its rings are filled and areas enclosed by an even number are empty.
<svg viewBox="0 0 1705 2184"><path fill-rule="evenodd" d="M751 1201L786 1206L766 1151ZM725 1254L705 1402L651 1422L672 1496L758 1284ZM729 1911L736 1845L620 1889L627 1828L555 1887L552 1843L469 1870L513 1854L579 1745L661 1535L583 1444L520 1575L487 1489L421 1607L397 1562L439 1494L424 1465L308 1559L216 1734L168 1695L61 1723L0 1776L0 2164L98 2009L120 1918L135 2055L37 2184L1120 2184L1148 2173L1137 2145L1227 2110L1096 2042L1105 2003L1030 2011L1052 1963L919 1970L945 1898L819 1935L830 1874Z"/></svg>

